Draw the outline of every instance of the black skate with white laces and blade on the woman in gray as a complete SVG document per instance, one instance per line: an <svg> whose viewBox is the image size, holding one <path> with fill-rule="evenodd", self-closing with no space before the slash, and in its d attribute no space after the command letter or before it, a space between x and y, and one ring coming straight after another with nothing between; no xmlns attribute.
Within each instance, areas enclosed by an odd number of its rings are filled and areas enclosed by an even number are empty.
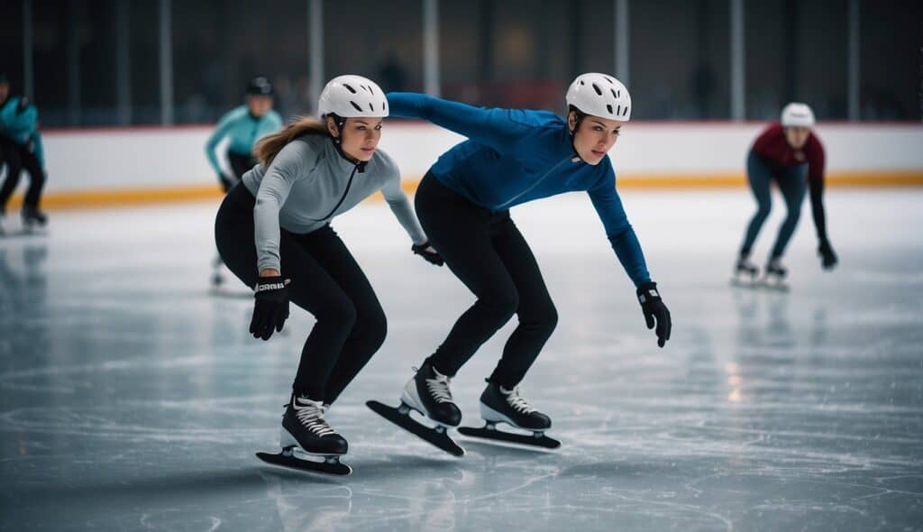
<svg viewBox="0 0 923 532"><path fill-rule="evenodd" d="M350 466L340 462L342 454L349 451L349 444L324 420L328 408L328 405L323 405L320 401L312 401L293 393L289 404L285 405L285 414L282 415L279 434L282 453L257 453L257 457L272 466L331 475L352 473L353 469ZM296 450L307 457L296 454ZM309 456L320 456L323 461L311 460Z"/></svg>

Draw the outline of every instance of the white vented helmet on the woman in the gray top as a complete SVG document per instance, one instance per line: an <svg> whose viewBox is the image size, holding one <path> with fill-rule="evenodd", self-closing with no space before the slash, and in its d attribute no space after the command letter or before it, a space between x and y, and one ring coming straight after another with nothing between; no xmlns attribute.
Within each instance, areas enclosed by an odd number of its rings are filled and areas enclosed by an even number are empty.
<svg viewBox="0 0 923 532"><path fill-rule="evenodd" d="M330 113L342 118L388 116L388 99L378 84L362 76L337 76L320 91L318 115Z"/></svg>

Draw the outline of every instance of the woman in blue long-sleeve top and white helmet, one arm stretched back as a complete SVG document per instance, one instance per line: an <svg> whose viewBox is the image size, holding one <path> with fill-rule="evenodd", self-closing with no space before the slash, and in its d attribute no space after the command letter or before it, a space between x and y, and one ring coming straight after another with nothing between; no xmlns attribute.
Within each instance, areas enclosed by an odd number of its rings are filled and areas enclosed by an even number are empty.
<svg viewBox="0 0 923 532"><path fill-rule="evenodd" d="M421 118L468 139L439 157L416 193L416 212L433 247L477 296L449 336L404 388L404 404L443 426L462 418L450 378L513 314L497 369L481 395L488 422L544 430L549 417L526 403L520 381L557 322L557 311L532 250L509 217L526 201L585 190L618 260L637 286L644 319L661 347L670 314L644 263L616 192L606 153L629 120L629 91L617 79L583 74L570 85L567 118L545 111L485 109L423 94L388 94L391 115Z"/></svg>

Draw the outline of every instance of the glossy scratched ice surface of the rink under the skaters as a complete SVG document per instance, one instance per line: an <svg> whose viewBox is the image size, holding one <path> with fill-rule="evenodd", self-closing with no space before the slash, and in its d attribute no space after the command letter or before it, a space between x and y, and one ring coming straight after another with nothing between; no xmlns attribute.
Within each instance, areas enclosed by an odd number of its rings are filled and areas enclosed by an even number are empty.
<svg viewBox="0 0 923 532"><path fill-rule="evenodd" d="M0 529L923 529L923 191L831 190L834 272L806 201L788 294L728 285L744 189L622 199L673 314L665 349L585 195L513 211L560 314L522 383L557 453L459 439L456 459L366 409L397 403L473 300L383 203L337 219L390 330L329 415L342 479L254 457L277 449L313 320L294 309L263 343L243 285L210 295L217 204L52 212L50 236L0 240ZM512 327L453 381L466 421Z"/></svg>

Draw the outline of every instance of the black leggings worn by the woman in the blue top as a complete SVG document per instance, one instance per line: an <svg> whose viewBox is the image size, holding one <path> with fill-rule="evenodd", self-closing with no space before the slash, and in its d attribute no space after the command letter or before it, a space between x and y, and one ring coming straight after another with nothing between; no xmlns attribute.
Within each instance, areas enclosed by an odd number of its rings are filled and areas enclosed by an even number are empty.
<svg viewBox="0 0 923 532"><path fill-rule="evenodd" d="M450 270L477 296L428 360L454 376L513 314L519 327L488 381L512 388L522 381L557 324L532 249L509 218L444 187L427 173L416 191L416 213Z"/></svg>

